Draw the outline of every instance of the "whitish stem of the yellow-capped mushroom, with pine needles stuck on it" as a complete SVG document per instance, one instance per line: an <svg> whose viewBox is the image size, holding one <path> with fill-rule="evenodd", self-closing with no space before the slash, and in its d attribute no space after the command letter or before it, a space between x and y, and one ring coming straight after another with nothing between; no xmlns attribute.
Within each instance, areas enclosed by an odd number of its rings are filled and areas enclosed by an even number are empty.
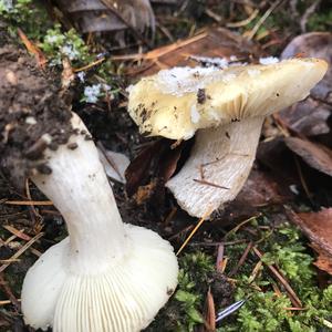
<svg viewBox="0 0 332 332"><path fill-rule="evenodd" d="M166 184L183 209L203 217L235 199L249 176L262 122L251 117L197 132L190 157Z"/></svg>

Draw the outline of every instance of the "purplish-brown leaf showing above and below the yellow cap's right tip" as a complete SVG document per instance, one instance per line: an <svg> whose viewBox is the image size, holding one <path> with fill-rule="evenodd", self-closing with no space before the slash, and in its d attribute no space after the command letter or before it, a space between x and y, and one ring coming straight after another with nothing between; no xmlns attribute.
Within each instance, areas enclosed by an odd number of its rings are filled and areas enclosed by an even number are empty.
<svg viewBox="0 0 332 332"><path fill-rule="evenodd" d="M277 116L291 131L304 135L329 134L326 123L332 105L332 33L311 32L294 38L281 54L282 59L297 56L321 58L328 61L329 71L324 79L312 90L311 96L291 107L281 111Z"/></svg>

